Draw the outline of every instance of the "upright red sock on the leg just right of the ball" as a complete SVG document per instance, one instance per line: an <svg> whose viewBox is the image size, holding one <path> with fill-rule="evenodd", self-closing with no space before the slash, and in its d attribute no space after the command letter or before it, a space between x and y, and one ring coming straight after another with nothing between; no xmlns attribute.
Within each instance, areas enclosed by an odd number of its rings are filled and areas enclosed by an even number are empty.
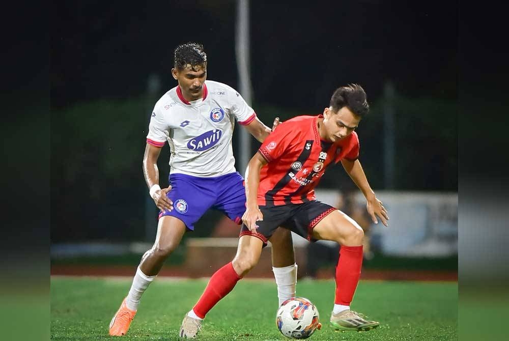
<svg viewBox="0 0 509 341"><path fill-rule="evenodd" d="M362 268L362 245L341 246L336 266L335 304L350 305L359 283Z"/></svg>

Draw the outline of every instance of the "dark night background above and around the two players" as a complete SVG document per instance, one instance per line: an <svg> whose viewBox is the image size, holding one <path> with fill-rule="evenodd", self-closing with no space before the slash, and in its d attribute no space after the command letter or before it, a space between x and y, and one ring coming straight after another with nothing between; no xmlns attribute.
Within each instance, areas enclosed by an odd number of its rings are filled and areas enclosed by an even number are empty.
<svg viewBox="0 0 509 341"><path fill-rule="evenodd" d="M316 115L337 87L359 83L372 107L358 129L360 160L375 191L457 191L456 5L251 1L253 108L266 124L275 116ZM188 41L203 43L208 79L239 90L236 2L52 6L51 241L144 239L147 118L156 100L176 86L173 50ZM147 91L150 75L160 79L156 93ZM396 91L390 188L383 180L382 129L389 82ZM253 139L253 152L256 147ZM161 186L167 185L167 160L166 146L159 158ZM349 182L338 167L320 186Z"/></svg>

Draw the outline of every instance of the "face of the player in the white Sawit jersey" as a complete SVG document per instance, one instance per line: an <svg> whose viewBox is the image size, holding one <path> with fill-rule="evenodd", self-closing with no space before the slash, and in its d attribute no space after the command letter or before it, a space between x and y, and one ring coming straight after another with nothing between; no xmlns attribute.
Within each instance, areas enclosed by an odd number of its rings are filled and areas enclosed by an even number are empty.
<svg viewBox="0 0 509 341"><path fill-rule="evenodd" d="M188 101L203 97L203 83L207 79L207 65L197 65L192 68L187 65L182 70L172 69L173 78L179 82L182 95Z"/></svg>

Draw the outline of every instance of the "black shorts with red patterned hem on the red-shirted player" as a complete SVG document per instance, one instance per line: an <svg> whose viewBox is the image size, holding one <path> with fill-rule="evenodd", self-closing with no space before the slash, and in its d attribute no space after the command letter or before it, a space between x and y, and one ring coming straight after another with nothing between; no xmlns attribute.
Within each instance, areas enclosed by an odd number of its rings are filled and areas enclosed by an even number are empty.
<svg viewBox="0 0 509 341"><path fill-rule="evenodd" d="M242 225L240 236L248 235L261 239L263 246L267 246L267 241L274 231L281 226L295 232L310 242L315 242L313 238L313 228L336 208L322 203L318 200L306 202L303 204L285 204L280 206L260 206L263 214L263 220L258 221L259 226L256 233L249 231L246 225Z"/></svg>

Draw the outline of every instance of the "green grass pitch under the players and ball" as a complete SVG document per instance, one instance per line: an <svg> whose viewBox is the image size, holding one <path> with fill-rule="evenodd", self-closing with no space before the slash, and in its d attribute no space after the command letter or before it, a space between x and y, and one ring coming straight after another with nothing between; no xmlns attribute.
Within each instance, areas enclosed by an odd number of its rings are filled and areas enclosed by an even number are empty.
<svg viewBox="0 0 509 341"><path fill-rule="evenodd" d="M52 277L52 340L177 340L184 314L207 281L156 279L145 292L127 336L110 337L108 325L131 278ZM333 280L299 280L297 295L320 312L321 330L309 340L457 340L456 282L361 281L352 309L379 321L367 332L337 332L328 324ZM289 340L275 325L277 291L270 280L243 279L207 315L197 340Z"/></svg>

